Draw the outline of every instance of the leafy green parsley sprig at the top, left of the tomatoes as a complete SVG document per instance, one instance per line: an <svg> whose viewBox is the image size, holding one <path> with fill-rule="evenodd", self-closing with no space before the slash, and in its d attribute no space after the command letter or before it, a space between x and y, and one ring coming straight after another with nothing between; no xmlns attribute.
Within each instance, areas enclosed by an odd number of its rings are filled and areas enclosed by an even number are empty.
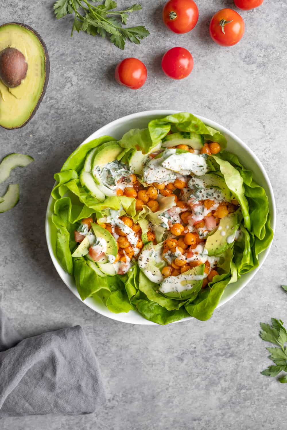
<svg viewBox="0 0 287 430"><path fill-rule="evenodd" d="M57 0L54 12L57 19L74 14L71 36L74 30L78 33L86 31L91 36L99 35L103 38L109 34L111 42L120 49L124 49L127 39L139 44L140 40L149 35L149 31L143 25L123 28L122 24L127 24L129 14L141 10L142 6L136 3L127 9L113 10L116 7L114 0L105 0L104 4L98 6L87 0Z"/></svg>

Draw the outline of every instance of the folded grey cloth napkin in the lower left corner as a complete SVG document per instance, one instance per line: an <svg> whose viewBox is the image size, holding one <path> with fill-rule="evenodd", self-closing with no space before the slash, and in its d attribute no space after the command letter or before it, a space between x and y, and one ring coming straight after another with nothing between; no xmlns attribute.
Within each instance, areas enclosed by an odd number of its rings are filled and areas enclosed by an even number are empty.
<svg viewBox="0 0 287 430"><path fill-rule="evenodd" d="M0 417L95 412L106 401L80 326L21 340L0 309Z"/></svg>

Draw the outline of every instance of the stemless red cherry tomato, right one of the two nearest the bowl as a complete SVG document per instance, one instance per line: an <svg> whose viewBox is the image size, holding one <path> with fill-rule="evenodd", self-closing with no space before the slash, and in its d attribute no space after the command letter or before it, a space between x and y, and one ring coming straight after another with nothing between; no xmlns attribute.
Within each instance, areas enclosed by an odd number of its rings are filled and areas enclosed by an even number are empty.
<svg viewBox="0 0 287 430"><path fill-rule="evenodd" d="M185 48L172 48L164 54L161 68L172 79L186 78L193 68L192 55Z"/></svg>

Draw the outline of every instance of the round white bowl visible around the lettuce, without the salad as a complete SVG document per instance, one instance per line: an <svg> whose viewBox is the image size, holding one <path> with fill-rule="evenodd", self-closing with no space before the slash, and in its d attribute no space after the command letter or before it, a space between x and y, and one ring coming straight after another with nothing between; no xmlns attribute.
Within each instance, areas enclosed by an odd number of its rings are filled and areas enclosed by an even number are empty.
<svg viewBox="0 0 287 430"><path fill-rule="evenodd" d="M122 135L128 132L130 129L146 128L150 120L153 120L156 118L162 118L170 114L176 114L178 112L179 111L158 110L158 111L139 112L137 114L127 115L126 117L119 118L118 120L112 121L106 126L100 128L92 135L90 135L88 138L86 138L86 140L84 140L81 145L83 145L84 143L92 139L99 138L100 136L103 136L103 135L110 135L116 138L117 140L119 140L122 137ZM222 127L219 124L211 120L208 120L207 118L200 117L199 115L196 115L196 116L200 118L208 126L219 130L220 132L222 132L222 134L225 135L225 137L227 138L228 151L234 152L235 154L238 155L244 167L246 167L247 169L250 169L253 172L254 180L258 182L265 189L269 200L271 227L273 230L275 230L276 211L275 211L275 199L274 199L272 186L265 172L264 167L262 166L262 164L260 163L256 155L253 154L250 148L241 139L239 139L229 130L225 129L225 127ZM63 163L64 161L65 160L63 160ZM52 203L53 203L53 199L52 197L50 197L48 202L47 212L46 212L46 240L47 240L49 253L52 258L52 262L56 267L57 272L59 273L59 276L62 278L62 280L64 281L66 286L71 290L71 292L73 292L74 295L76 295L77 298L81 300L80 295L77 292L77 287L73 276L70 276L62 269L62 267L60 266L55 256L54 250L55 250L55 241L56 241L56 237L55 237L56 229L51 222ZM256 269L252 270L250 273L247 273L241 276L241 278L236 283L228 285L226 287L218 307L222 306L222 304L225 304L228 300L234 297L243 287L245 287L249 283L249 281L257 273L257 271L265 261L265 258L268 255L270 247L271 247L271 244L269 245L268 249L265 249L265 251L259 255L259 266L256 267ZM148 321L147 319L143 318L143 316L141 316L138 312L134 310L130 310L130 312L128 313L112 313L108 310L107 307L105 307L105 305L102 303L100 299L96 300L94 298L87 298L83 303L86 304L86 306L89 306L91 309L96 310L96 312L99 312L102 315L108 316L108 318L116 319L117 321L130 322L132 324L155 324L154 322ZM188 319L192 319L192 317L182 319L181 321L183 320L186 321Z"/></svg>

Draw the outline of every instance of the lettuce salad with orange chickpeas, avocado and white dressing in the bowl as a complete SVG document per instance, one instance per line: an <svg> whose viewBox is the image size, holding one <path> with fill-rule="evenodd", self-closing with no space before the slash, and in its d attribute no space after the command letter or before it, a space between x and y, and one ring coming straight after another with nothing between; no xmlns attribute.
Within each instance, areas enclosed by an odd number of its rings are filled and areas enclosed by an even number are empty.
<svg viewBox="0 0 287 430"><path fill-rule="evenodd" d="M167 324L209 319L271 243L268 198L189 113L82 144L56 173L55 254L82 300Z"/></svg>

